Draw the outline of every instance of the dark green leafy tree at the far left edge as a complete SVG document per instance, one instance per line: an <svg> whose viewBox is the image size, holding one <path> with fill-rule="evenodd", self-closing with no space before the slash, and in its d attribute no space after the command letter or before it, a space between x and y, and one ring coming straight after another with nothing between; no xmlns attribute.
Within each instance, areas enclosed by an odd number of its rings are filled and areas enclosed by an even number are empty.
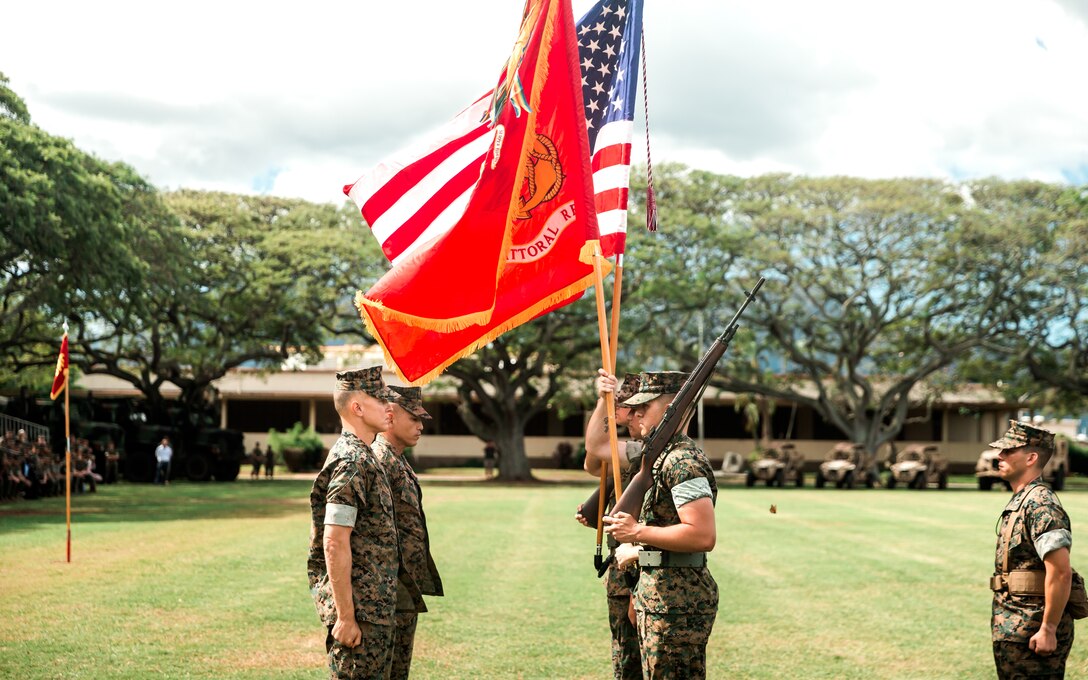
<svg viewBox="0 0 1088 680"><path fill-rule="evenodd" d="M62 317L143 285L141 245L166 210L132 168L34 125L7 83L0 74L0 356L48 362Z"/></svg>

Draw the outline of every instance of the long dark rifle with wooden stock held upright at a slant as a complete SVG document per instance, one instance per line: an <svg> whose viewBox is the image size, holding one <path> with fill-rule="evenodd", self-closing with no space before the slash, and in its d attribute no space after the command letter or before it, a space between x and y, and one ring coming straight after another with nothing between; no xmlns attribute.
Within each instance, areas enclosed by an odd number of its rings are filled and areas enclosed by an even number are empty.
<svg viewBox="0 0 1088 680"><path fill-rule="evenodd" d="M707 348L706 354L703 358L698 360L695 368L692 370L691 374L688 375L688 380L684 381L683 386L680 387L680 392L672 397L672 401L665 411L665 416L662 417L662 422L654 428L654 430L643 442L642 447L642 465L639 468L639 472L631 480L631 483L627 485L623 493L620 495L619 500L616 506L611 509L613 512L627 512L635 518L642 511L642 499L646 495L646 491L650 489L651 483L653 483L653 469L654 462L656 462L657 457L665 450L665 446L669 443L669 440L677 433L682 424L685 424L691 417L692 410L698 400L703 396L703 392L706 390L706 385L710 380L710 375L714 374L715 368L718 366L718 361L729 349L729 343L733 339L733 335L737 334L737 330L740 327L740 318L747 309L747 306L755 299L756 293L763 287L764 277L761 276L759 281L756 282L755 287L752 288L751 293L745 293L744 304L741 308L737 310L733 314L732 320L726 330L714 341L714 344ZM607 498L613 493L611 480L605 486L604 495ZM597 489L593 494L585 499L582 507L585 509L595 508L599 503L601 490ZM595 527L596 518L583 512L583 517L590 522L591 527ZM604 572L602 565L596 564L601 573ZM607 566L607 564L603 565ZM599 576L599 573L598 573Z"/></svg>

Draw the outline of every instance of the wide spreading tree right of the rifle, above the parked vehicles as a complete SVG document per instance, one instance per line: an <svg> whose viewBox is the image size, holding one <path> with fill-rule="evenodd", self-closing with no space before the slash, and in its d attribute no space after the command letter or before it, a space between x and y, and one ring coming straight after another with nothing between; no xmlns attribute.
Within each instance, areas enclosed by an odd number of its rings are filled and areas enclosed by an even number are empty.
<svg viewBox="0 0 1088 680"><path fill-rule="evenodd" d="M703 174L687 182L703 202ZM751 332L714 381L721 388L809 406L876 452L956 360L1015 326L1035 239L955 186L779 175L724 185L709 208L720 227L700 246L739 257L710 287L671 284L719 327L767 277L745 314ZM678 319L662 314L658 333L690 364L693 324Z"/></svg>

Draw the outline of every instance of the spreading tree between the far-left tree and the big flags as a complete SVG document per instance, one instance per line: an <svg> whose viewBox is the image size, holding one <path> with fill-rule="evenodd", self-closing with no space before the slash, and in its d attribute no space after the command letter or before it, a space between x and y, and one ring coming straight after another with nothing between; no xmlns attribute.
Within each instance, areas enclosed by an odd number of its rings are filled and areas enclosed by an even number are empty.
<svg viewBox="0 0 1088 680"><path fill-rule="evenodd" d="M228 370L316 359L344 330L349 288L375 257L346 208L205 191L165 201L178 247L149 252L144 288L72 318L84 371L131 383L152 409L173 383L199 409Z"/></svg>

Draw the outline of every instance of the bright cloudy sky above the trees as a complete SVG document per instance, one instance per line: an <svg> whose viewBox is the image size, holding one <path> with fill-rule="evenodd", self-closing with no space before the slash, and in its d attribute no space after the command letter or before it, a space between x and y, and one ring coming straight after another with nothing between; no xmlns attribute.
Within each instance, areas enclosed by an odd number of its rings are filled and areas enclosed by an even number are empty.
<svg viewBox="0 0 1088 680"><path fill-rule="evenodd" d="M1088 183L1088 0L645 4L655 163ZM161 187L341 201L494 84L521 7L11 3L0 72Z"/></svg>

